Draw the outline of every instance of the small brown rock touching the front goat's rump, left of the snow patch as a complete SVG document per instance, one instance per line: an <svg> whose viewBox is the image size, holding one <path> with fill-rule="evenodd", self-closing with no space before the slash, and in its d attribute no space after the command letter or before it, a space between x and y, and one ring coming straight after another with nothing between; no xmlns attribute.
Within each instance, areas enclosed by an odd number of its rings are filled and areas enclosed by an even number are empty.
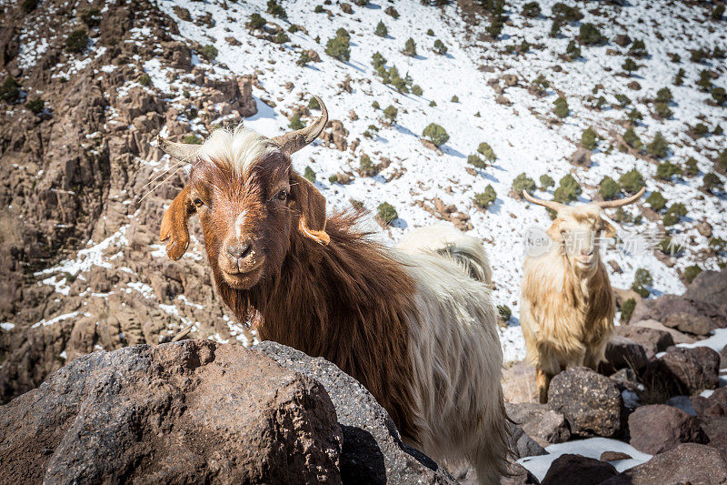
<svg viewBox="0 0 727 485"><path fill-rule="evenodd" d="M507 415L543 447L570 440L571 429L563 414L534 402L506 403Z"/></svg>

